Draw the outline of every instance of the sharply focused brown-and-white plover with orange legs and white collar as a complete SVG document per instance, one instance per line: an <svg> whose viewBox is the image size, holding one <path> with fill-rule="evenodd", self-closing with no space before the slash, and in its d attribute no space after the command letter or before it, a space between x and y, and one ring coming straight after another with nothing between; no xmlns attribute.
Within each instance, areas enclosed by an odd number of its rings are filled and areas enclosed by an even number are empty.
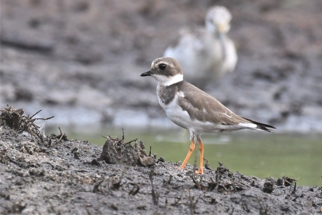
<svg viewBox="0 0 322 215"><path fill-rule="evenodd" d="M172 57L155 59L150 70L141 76L156 78L156 93L166 115L176 125L189 130L191 145L181 169L185 168L196 139L200 150L200 167L196 173L203 174L204 145L200 139L202 133L230 132L246 128L273 132L272 129L275 128L234 114L211 95L183 81L182 68Z"/></svg>

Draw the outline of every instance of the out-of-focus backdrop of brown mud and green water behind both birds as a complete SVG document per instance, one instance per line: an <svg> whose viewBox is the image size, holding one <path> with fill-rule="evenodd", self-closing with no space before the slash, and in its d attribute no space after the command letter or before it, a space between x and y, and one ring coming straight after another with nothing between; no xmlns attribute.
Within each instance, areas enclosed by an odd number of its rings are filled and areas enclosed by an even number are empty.
<svg viewBox="0 0 322 215"><path fill-rule="evenodd" d="M189 135L166 117L156 81L140 74L181 28L203 26L212 5L231 11L239 59L205 91L278 129L205 135L205 157L243 174L321 185L320 0L1 0L0 108L42 109L38 117L55 116L46 134L60 126L98 144L124 127L153 153L182 160Z"/></svg>

